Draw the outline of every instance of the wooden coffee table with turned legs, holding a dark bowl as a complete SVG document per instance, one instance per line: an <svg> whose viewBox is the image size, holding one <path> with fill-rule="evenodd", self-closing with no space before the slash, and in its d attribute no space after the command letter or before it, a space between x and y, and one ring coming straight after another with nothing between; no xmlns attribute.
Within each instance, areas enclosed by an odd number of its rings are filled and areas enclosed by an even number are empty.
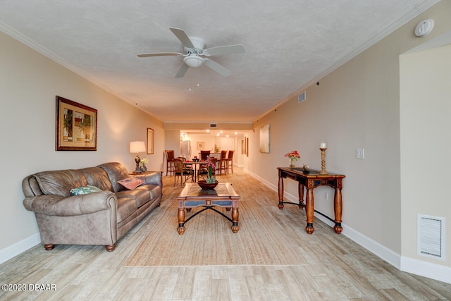
<svg viewBox="0 0 451 301"><path fill-rule="evenodd" d="M210 190L202 190L197 183L188 183L183 188L180 195L177 197L178 201L178 234L185 233L185 223L190 221L197 214L211 209L218 214L221 214L226 219L232 222L232 231L237 233L240 230L238 226L238 200L240 196L237 195L231 183L219 183L218 186ZM204 209L196 212L185 221L185 209L190 211L194 207L202 206ZM227 211L232 209L232 219L214 207L226 207Z"/></svg>

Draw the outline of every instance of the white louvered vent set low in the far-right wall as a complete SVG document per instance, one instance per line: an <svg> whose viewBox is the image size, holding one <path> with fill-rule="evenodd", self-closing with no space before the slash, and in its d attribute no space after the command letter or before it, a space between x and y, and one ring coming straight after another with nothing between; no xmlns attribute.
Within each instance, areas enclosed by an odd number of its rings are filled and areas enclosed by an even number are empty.
<svg viewBox="0 0 451 301"><path fill-rule="evenodd" d="M445 219L418 214L417 254L445 260Z"/></svg>

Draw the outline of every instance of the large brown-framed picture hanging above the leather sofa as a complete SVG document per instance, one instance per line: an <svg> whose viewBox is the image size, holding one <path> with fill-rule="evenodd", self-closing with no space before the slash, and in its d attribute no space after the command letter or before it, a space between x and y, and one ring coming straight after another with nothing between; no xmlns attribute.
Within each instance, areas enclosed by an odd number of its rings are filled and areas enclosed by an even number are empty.
<svg viewBox="0 0 451 301"><path fill-rule="evenodd" d="M56 96L56 151L97 151L97 109Z"/></svg>

